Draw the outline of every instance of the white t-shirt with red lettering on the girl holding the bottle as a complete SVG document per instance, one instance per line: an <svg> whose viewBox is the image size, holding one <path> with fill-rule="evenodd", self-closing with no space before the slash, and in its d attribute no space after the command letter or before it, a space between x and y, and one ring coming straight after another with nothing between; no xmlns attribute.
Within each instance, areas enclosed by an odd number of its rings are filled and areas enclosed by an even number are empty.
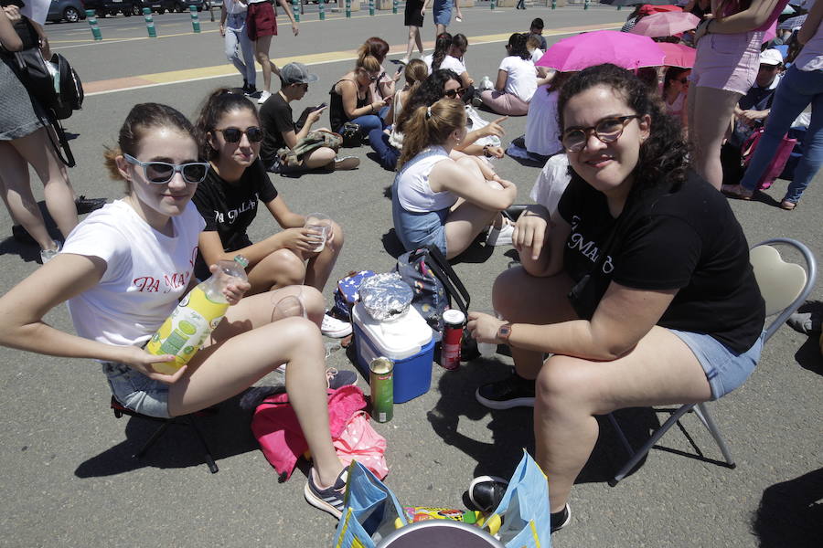
<svg viewBox="0 0 823 548"><path fill-rule="evenodd" d="M117 200L71 231L61 253L106 261L100 282L68 301L80 337L141 346L175 310L191 280L206 223L189 204L172 224L175 237L166 237Z"/></svg>

